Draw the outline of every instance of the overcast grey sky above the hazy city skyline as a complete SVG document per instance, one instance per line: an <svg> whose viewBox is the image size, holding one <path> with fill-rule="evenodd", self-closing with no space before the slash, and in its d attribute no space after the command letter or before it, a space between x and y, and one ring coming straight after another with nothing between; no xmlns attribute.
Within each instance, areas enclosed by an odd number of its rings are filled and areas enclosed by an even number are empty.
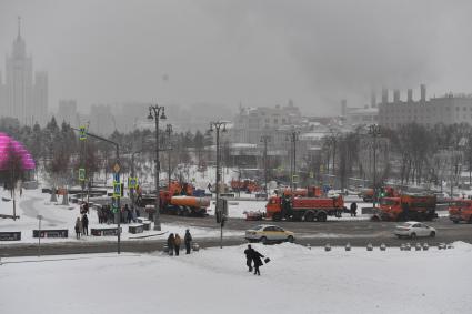
<svg viewBox="0 0 472 314"><path fill-rule="evenodd" d="M0 0L0 69L21 16L50 107L293 99L330 114L382 84L471 93L471 12L465 0Z"/></svg>

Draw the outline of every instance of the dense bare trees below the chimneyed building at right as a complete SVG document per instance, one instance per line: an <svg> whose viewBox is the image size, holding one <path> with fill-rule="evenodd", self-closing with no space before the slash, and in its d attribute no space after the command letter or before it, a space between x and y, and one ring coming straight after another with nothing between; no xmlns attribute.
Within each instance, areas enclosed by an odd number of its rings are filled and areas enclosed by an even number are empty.
<svg viewBox="0 0 472 314"><path fill-rule="evenodd" d="M349 178L365 179L372 185L374 171L378 184L389 179L405 185L442 186L442 182L456 185L466 170L472 184L472 126L410 123L399 130L381 129L375 140L365 128L359 128L327 136L321 154L310 156L305 165L334 175L339 188L348 188Z"/></svg>

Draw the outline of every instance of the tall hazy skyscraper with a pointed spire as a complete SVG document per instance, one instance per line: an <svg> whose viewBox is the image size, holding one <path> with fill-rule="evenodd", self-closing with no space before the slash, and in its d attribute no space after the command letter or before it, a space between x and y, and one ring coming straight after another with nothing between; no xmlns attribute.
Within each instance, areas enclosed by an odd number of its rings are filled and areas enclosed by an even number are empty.
<svg viewBox="0 0 472 314"><path fill-rule="evenodd" d="M48 119L48 74L37 72L33 81L32 58L27 55L20 19L6 65L4 84L0 74L0 117L16 118L27 125L44 125Z"/></svg>

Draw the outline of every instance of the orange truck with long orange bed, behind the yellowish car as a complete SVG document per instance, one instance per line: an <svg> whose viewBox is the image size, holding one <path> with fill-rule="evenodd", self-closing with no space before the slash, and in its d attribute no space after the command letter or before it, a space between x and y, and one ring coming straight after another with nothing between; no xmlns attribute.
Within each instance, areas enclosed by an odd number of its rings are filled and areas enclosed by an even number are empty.
<svg viewBox="0 0 472 314"><path fill-rule="evenodd" d="M273 221L294 220L325 222L328 216L341 217L344 200L337 197L271 196L265 205L265 217Z"/></svg>

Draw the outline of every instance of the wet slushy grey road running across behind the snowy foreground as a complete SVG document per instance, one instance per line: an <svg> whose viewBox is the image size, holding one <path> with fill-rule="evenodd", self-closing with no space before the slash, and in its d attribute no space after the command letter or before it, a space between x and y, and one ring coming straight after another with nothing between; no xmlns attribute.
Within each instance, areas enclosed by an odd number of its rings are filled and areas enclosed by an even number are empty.
<svg viewBox="0 0 472 314"><path fill-rule="evenodd" d="M161 215L163 223L178 223L182 227L211 227L220 229L214 217L182 217ZM242 219L230 219L223 229L223 245L239 245L247 243L243 232L254 225L268 223L271 221L245 221ZM277 222L277 225L295 233L295 243L301 245L321 246L331 244L331 246L343 246L350 243L352 246L365 246L372 243L379 246L381 243L388 246L400 246L402 243L428 243L430 246L436 246L438 243L451 243L454 241L464 241L472 243L472 224L453 224L448 217L441 217L428 224L435 227L438 235L435 237L420 237L418 240L396 239L393 230L396 222L371 222L365 220L355 221L328 221L321 222ZM224 231L241 231L240 236L224 236ZM152 237L151 237L152 239ZM159 240L124 240L121 241L121 252L154 252L162 251L165 245L164 239ZM199 237L194 242L200 247L212 247L220 245L220 237ZM42 243L42 255L60 254L83 254L83 253L106 253L117 252L117 242L113 241L93 241L93 242L62 242L62 243ZM1 256L33 256L38 254L38 246L34 243L1 244Z"/></svg>

